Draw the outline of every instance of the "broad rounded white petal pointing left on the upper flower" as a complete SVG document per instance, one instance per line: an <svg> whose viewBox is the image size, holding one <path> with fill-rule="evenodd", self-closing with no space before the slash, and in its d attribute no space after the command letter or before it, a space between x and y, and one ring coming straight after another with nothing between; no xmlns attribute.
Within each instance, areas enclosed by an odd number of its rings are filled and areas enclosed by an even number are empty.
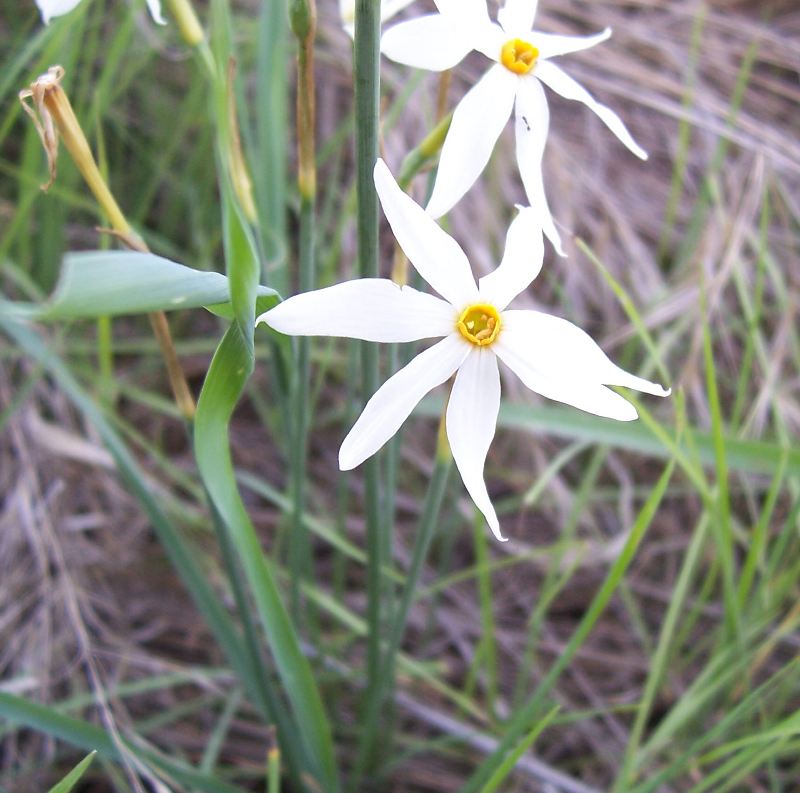
<svg viewBox="0 0 800 793"><path fill-rule="evenodd" d="M470 50L469 28L454 25L453 19L444 14L428 14L401 22L381 37L381 52L387 58L433 72L451 69Z"/></svg>

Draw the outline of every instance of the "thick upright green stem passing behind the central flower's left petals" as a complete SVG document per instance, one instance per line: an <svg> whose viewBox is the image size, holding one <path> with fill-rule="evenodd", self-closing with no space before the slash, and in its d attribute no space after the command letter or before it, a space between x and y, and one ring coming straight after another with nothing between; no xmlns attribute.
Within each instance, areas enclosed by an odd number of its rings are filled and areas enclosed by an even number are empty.
<svg viewBox="0 0 800 793"><path fill-rule="evenodd" d="M379 0L356 0L354 79L356 106L356 191L358 205L358 269L361 278L378 275L378 199L372 171L378 159L380 73ZM362 343L362 397L369 399L378 388L378 354L374 344ZM383 524L380 503L379 458L364 464L367 533L367 686L362 712L368 714L380 696L381 680L381 567ZM372 705L371 705L372 703ZM377 745L375 730L362 729L355 768L355 784L373 762Z"/></svg>

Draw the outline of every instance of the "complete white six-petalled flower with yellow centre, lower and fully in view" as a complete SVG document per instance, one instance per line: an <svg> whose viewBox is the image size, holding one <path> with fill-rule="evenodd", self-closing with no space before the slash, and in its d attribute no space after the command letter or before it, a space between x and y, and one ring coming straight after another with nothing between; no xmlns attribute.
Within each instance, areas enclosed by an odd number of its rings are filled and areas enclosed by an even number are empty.
<svg viewBox="0 0 800 793"><path fill-rule="evenodd" d="M420 399L455 374L446 417L453 459L473 501L502 540L483 481L500 408L498 358L533 391L620 421L635 419L636 409L606 385L656 396L669 391L615 366L571 322L507 309L542 267L542 232L529 208L511 224L500 266L476 284L458 243L397 186L383 160L375 165L375 187L400 246L444 299L365 278L289 298L257 321L293 336L379 342L441 337L367 402L342 443L339 467L355 468L378 451Z"/></svg>

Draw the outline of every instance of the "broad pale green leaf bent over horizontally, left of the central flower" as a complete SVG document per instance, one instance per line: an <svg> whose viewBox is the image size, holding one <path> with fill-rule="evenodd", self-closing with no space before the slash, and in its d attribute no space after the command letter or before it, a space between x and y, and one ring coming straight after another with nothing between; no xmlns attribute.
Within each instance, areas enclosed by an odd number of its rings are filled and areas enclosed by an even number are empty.
<svg viewBox="0 0 800 793"><path fill-rule="evenodd" d="M257 287L261 310L277 302L275 290ZM152 253L86 251L64 257L58 285L42 304L3 301L10 316L33 320L85 319L208 306L230 315L226 276L193 270Z"/></svg>

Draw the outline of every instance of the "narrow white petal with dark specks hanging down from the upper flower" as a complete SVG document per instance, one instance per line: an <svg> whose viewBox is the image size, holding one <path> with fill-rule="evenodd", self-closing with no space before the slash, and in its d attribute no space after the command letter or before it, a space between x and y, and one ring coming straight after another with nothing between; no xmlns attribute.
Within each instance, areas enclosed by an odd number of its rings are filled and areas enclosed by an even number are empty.
<svg viewBox="0 0 800 793"><path fill-rule="evenodd" d="M517 141L517 165L525 185L528 203L536 212L539 225L559 256L565 256L547 196L544 192L542 157L550 127L550 109L542 84L534 77L523 77L517 89L514 131Z"/></svg>

